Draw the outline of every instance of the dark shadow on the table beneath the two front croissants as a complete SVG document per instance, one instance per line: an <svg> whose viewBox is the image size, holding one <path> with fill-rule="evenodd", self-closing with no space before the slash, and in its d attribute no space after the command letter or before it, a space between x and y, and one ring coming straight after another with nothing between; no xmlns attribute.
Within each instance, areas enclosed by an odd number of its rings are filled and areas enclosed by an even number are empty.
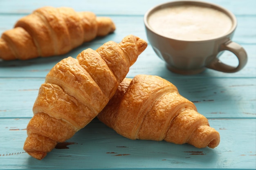
<svg viewBox="0 0 256 170"><path fill-rule="evenodd" d="M63 167L68 167L69 165L65 165L65 163L72 159L83 160L79 163L81 166L102 168L103 164L92 163L93 160L102 157L108 159L109 163L112 163L111 166L115 166L113 162L117 160L120 164L129 160L130 164L140 168L140 166L148 165L148 161L163 161L163 163L169 162L172 164L186 162L189 165L190 162L193 162L192 164L214 163L216 162L215 159L218 158L216 150L210 148L199 149L189 144L177 145L166 141L131 140L118 135L97 118L92 120L88 126L79 130L67 143L74 144L68 145L69 149L52 150L41 161L35 161L33 157L29 157L27 166L44 167L45 163L49 162L47 164L48 168L51 168L51 166L54 168L54 165L50 163L54 160L54 164L58 164L59 161ZM95 145L97 148L95 148ZM157 164L154 165L157 166ZM105 164L105 166L108 165Z"/></svg>

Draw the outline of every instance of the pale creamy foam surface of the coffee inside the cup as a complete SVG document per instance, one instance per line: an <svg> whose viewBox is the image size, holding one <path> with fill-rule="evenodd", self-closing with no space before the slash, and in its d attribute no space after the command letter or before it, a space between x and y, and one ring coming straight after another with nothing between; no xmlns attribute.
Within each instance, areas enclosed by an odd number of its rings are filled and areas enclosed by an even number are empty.
<svg viewBox="0 0 256 170"><path fill-rule="evenodd" d="M159 9L150 15L148 24L160 35L188 41L218 38L232 27L225 13L196 5Z"/></svg>

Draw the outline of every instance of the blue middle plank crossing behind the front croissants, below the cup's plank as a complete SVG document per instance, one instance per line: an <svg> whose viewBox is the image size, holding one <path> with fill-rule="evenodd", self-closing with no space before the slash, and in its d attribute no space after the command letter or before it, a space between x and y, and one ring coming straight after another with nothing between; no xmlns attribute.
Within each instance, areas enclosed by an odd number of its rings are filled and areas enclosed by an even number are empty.
<svg viewBox="0 0 256 170"><path fill-rule="evenodd" d="M255 78L168 77L208 118L255 118ZM44 78L0 78L0 117L32 117Z"/></svg>

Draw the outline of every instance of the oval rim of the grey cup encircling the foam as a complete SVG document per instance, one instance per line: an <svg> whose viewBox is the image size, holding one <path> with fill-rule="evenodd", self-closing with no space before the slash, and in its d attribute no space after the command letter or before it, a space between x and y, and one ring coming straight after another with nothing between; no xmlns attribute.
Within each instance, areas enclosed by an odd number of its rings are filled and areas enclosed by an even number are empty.
<svg viewBox="0 0 256 170"><path fill-rule="evenodd" d="M231 18L232 20L232 27L231 29L225 34L222 35L220 37L217 38L212 38L209 40L179 40L179 39L175 39L175 38L170 38L167 37L165 35L159 34L156 31L154 31L151 26L148 24L148 16L153 13L154 11L161 9L161 8L166 8L166 7L171 7L171 6L175 6L175 5L182 5L182 4L196 4L196 5L201 5L203 7L209 7L209 8L213 8L213 9L218 9L222 12L224 12L226 15L229 16L229 18ZM205 2L205 1L201 1L201 0L174 0L174 1L170 1L170 2L164 2L161 4L157 4L154 7L151 7L150 9L148 9L148 11L146 11L146 13L144 14L144 24L146 26L147 29L149 29L151 32L164 37L164 38L168 38L171 40L176 40L176 41L182 41L182 42L207 42L207 41L212 41L212 40L218 40L218 39L222 39L223 37L226 37L227 35L230 35L234 32L234 30L237 27L237 19L236 16L234 15L234 13L232 13L231 11L229 11L228 9L218 5L218 4L214 4L211 2Z"/></svg>

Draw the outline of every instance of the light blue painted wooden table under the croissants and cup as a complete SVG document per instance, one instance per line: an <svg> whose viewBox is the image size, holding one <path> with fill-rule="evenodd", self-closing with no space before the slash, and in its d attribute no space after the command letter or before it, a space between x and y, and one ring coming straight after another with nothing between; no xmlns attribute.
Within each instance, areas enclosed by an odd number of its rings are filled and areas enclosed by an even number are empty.
<svg viewBox="0 0 256 170"><path fill-rule="evenodd" d="M233 40L243 45L248 54L248 63L242 71L222 73L207 69L198 75L177 75L167 70L148 44L127 75L159 75L175 84L181 95L194 102L198 112L220 132L217 148L133 141L94 119L69 139L66 146L52 150L41 161L23 150L32 106L52 66L65 57L76 57L83 49L97 49L109 40L120 42L129 34L147 40L144 13L162 2L167 1L0 0L0 33L12 29L19 18L43 6L92 11L98 16L111 17L117 27L115 33L84 43L65 55L0 61L0 169L256 169L255 0L209 0L229 9L238 19ZM229 52L221 60L237 64L236 57Z"/></svg>

